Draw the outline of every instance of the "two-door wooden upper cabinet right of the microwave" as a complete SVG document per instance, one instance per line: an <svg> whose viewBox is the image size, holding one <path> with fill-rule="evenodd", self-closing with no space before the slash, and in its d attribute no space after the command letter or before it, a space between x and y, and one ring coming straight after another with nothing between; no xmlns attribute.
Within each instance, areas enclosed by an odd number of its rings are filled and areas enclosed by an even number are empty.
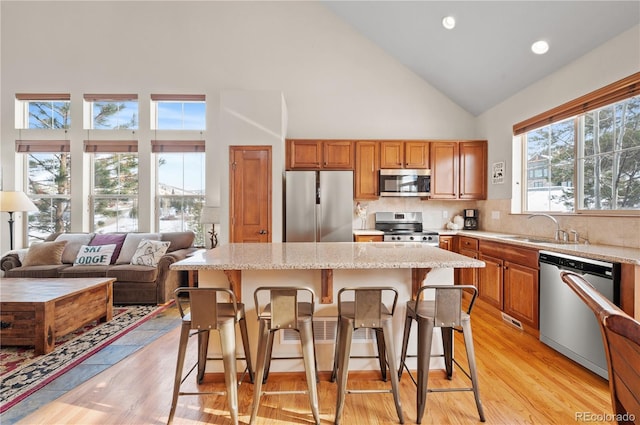
<svg viewBox="0 0 640 425"><path fill-rule="evenodd" d="M431 142L431 198L487 198L487 142Z"/></svg>

